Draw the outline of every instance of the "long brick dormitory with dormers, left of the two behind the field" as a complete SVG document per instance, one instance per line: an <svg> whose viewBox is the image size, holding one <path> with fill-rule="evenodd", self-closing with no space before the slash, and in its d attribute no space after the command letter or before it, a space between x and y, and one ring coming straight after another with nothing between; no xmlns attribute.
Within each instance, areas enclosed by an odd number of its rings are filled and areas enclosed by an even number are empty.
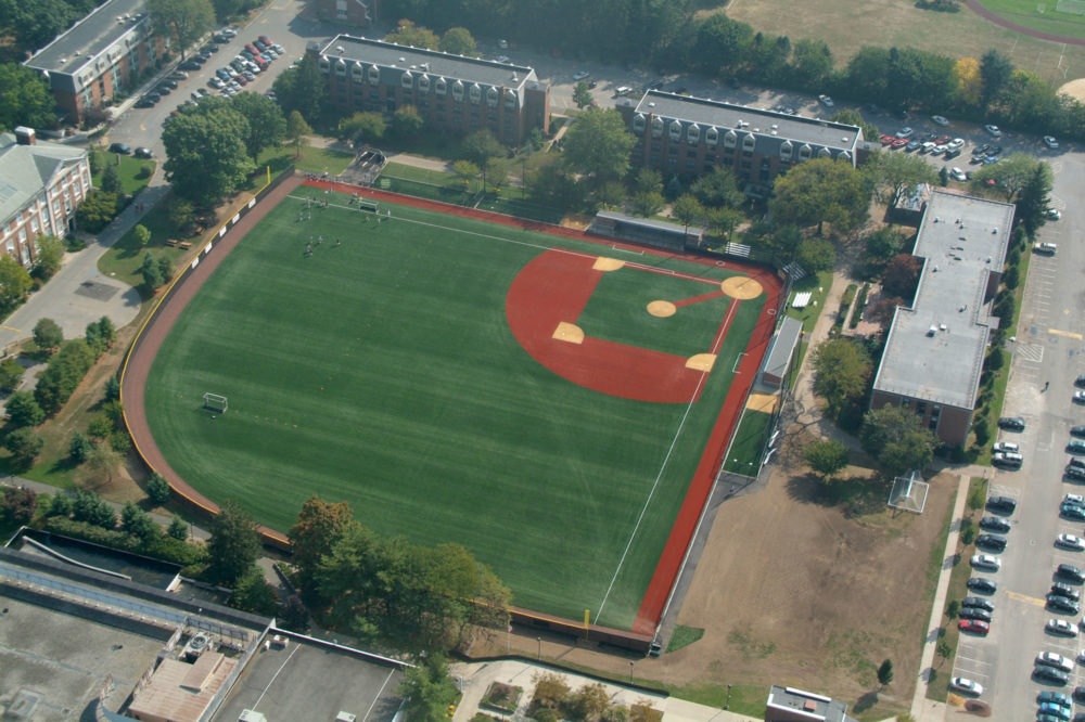
<svg viewBox="0 0 1085 722"><path fill-rule="evenodd" d="M426 129L486 128L506 145L549 129L550 88L522 65L464 57L349 35L318 51L332 104L391 115L413 106Z"/></svg>

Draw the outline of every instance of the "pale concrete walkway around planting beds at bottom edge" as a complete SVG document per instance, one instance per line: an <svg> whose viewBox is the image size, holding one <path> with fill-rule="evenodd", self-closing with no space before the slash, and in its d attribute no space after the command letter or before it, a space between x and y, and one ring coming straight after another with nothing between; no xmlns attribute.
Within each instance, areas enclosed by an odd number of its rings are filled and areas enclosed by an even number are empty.
<svg viewBox="0 0 1085 722"><path fill-rule="evenodd" d="M538 675L553 673L564 678L573 692L589 684L595 684L593 680L582 674L574 674L556 670L546 665L534 665L519 659L502 659L488 662L457 662L450 666L452 679L463 693L459 707L452 715L454 722L467 722L475 712L478 705L494 682L501 682L520 687L523 692L520 695L520 704L516 708L514 719L526 719L527 706L535 695L535 681ZM725 712L718 707L707 707L695 702L667 697L665 695L653 694L640 689L633 689L624 685L602 683L607 689L607 696L614 704L626 707L636 704L647 704L663 712L664 722L745 722L760 718L745 717L733 712Z"/></svg>

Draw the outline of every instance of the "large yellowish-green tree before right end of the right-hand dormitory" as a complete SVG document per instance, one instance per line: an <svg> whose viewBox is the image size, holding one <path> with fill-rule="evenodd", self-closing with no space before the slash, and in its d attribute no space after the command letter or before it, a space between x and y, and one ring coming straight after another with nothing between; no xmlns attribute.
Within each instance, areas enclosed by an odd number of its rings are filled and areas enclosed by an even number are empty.
<svg viewBox="0 0 1085 722"><path fill-rule="evenodd" d="M776 180L769 211L779 223L800 228L817 224L820 235L828 221L840 231L857 228L867 218L870 186L851 164L832 158L802 163Z"/></svg>

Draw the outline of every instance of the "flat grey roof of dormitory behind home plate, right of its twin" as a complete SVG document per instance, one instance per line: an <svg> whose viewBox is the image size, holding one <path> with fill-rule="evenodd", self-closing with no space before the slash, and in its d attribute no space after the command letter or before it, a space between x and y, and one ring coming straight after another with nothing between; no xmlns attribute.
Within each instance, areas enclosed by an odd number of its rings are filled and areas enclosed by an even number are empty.
<svg viewBox="0 0 1085 722"><path fill-rule="evenodd" d="M646 92L637 103L635 113L695 123L705 128L714 126L720 130L742 128L744 132L752 132L754 136L776 137L781 141L791 140L809 143L813 146L846 150L853 154L856 140L861 136L857 126L843 123L775 113L704 98L676 95L660 90Z"/></svg>

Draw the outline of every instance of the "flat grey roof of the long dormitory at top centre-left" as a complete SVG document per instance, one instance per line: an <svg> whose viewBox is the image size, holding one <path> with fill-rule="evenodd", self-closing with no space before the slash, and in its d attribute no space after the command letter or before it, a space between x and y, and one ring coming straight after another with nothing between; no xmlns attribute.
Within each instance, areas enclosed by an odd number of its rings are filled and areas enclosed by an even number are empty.
<svg viewBox="0 0 1085 722"><path fill-rule="evenodd" d="M535 70L525 65L464 57L350 35L335 36L320 50L320 54L331 61L342 57L348 62L373 64L400 72L425 73L435 78L444 77L498 88L520 89L534 86L538 80Z"/></svg>

